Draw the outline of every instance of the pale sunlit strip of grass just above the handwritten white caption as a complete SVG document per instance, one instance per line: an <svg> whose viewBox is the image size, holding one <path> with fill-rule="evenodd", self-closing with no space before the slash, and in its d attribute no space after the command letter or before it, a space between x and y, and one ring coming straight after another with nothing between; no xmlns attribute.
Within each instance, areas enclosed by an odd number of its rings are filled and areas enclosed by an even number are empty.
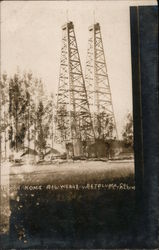
<svg viewBox="0 0 159 250"><path fill-rule="evenodd" d="M10 185L14 184L84 184L126 182L133 185L134 163L131 161L75 161L54 165L10 168Z"/></svg>

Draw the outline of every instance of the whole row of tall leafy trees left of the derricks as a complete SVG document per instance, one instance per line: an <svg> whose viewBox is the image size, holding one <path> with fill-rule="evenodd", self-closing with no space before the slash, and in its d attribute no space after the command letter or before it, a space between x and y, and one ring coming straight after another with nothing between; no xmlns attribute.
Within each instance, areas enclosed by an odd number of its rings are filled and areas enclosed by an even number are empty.
<svg viewBox="0 0 159 250"><path fill-rule="evenodd" d="M41 79L17 72L0 79L1 155L31 148L43 157L53 143L53 94L46 95Z"/></svg>

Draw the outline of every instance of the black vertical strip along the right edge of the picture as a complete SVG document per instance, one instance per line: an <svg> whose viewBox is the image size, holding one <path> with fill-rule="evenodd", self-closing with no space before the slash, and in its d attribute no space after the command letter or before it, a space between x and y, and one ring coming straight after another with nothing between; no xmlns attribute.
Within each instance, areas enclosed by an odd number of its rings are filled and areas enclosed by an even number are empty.
<svg viewBox="0 0 159 250"><path fill-rule="evenodd" d="M158 7L130 8L136 211L143 247L158 246Z"/></svg>

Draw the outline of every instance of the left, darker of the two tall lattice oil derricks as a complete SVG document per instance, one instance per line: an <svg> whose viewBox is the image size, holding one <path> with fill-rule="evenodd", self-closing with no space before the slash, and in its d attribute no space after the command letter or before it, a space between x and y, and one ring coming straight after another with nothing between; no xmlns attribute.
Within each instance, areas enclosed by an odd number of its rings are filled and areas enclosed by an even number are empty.
<svg viewBox="0 0 159 250"><path fill-rule="evenodd" d="M62 26L60 77L57 94L56 139L72 143L94 140L93 124L72 22ZM78 153L75 153L78 151Z"/></svg>

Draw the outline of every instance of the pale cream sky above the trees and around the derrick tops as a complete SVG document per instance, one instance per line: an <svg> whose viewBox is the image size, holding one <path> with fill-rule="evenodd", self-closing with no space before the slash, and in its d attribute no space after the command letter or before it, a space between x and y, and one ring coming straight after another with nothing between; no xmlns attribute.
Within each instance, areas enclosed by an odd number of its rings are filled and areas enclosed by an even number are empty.
<svg viewBox="0 0 159 250"><path fill-rule="evenodd" d="M42 78L47 92L57 92L61 26L73 21L83 73L88 27L100 23L119 137L132 112L129 7L155 5L155 0L3 1L1 2L1 72L19 68ZM95 13L95 14L93 14Z"/></svg>

